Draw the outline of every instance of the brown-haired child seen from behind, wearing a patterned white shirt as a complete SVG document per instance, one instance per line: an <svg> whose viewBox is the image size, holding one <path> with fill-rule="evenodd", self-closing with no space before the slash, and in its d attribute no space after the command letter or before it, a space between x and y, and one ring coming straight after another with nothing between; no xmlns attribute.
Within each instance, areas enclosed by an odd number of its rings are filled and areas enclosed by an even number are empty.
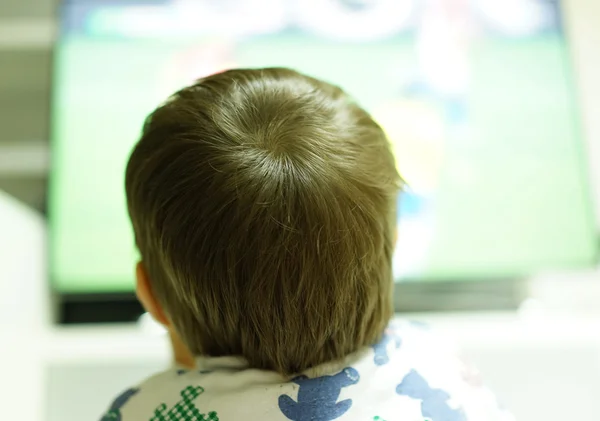
<svg viewBox="0 0 600 421"><path fill-rule="evenodd" d="M126 172L137 292L179 367L103 421L500 420L443 344L389 325L395 203L381 128L288 69L199 80Z"/></svg>

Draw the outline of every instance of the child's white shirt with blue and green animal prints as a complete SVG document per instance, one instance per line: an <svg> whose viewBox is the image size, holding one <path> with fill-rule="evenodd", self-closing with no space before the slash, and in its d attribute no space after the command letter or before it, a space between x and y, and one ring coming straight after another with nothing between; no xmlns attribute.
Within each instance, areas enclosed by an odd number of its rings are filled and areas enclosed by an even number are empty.
<svg viewBox="0 0 600 421"><path fill-rule="evenodd" d="M198 358L126 390L101 421L513 421L451 346L395 321L383 340L301 375Z"/></svg>

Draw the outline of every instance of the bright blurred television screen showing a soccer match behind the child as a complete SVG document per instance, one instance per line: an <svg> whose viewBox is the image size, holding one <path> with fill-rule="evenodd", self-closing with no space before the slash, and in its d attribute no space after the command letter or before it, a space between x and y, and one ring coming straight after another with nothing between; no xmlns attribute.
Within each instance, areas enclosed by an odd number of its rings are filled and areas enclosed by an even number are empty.
<svg viewBox="0 0 600 421"><path fill-rule="evenodd" d="M552 0L70 0L52 103L51 277L130 292L124 169L146 115L232 67L343 87L407 188L398 281L520 277L596 257L585 143Z"/></svg>

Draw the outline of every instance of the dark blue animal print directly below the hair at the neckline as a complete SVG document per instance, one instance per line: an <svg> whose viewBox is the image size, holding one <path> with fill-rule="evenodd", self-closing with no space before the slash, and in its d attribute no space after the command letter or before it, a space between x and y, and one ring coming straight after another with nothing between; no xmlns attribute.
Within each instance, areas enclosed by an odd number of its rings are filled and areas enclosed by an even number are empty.
<svg viewBox="0 0 600 421"><path fill-rule="evenodd" d="M292 421L331 421L352 406L352 399L338 402L342 388L358 383L358 371L347 367L333 376L314 379L299 376L292 381L298 388L298 402L288 395L279 396L279 409Z"/></svg>

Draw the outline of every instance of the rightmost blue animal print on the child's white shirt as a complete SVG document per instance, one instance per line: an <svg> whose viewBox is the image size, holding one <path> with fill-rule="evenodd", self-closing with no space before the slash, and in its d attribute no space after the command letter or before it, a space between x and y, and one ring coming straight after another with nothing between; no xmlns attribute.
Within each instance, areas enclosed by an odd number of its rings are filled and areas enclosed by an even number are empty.
<svg viewBox="0 0 600 421"><path fill-rule="evenodd" d="M448 405L450 395L441 389L432 389L415 370L411 370L396 387L396 393L421 401L421 415L431 421L466 421L461 409Z"/></svg>

